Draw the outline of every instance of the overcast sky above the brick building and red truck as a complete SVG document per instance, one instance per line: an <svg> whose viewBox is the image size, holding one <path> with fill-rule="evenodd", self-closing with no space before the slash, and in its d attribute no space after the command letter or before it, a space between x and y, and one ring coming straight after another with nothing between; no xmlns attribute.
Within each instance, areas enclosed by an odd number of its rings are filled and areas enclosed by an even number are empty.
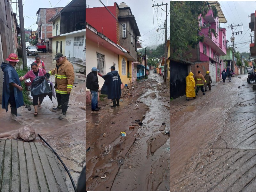
<svg viewBox="0 0 256 192"><path fill-rule="evenodd" d="M65 7L72 0L22 0L23 3L23 15L24 15L24 26L32 30L37 29L36 25L36 12L39 8L48 7ZM10 0L10 2L16 2L16 0ZM12 4L12 10L16 13L16 3ZM19 12L18 12L19 15ZM17 16L18 16L17 15ZM19 18L17 18L18 23Z"/></svg>

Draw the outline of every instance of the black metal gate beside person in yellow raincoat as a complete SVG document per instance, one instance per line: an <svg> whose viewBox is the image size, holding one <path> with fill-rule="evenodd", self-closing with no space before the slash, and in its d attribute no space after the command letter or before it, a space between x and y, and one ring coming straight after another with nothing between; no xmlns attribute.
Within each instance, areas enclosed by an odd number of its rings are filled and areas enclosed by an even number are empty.
<svg viewBox="0 0 256 192"><path fill-rule="evenodd" d="M188 76L188 65L171 61L170 71L170 98L176 99L186 94L186 76Z"/></svg>

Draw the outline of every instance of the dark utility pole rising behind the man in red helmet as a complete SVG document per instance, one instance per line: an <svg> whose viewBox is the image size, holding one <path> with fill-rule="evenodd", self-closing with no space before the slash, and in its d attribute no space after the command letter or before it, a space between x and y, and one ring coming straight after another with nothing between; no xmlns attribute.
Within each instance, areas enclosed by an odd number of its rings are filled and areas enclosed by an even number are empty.
<svg viewBox="0 0 256 192"><path fill-rule="evenodd" d="M22 48L22 63L23 69L27 65L27 55L26 55L26 41L25 41L25 27L24 27L24 19L23 19L23 7L22 0L18 0L19 3L19 17L20 17L20 38L21 38L21 48Z"/></svg>

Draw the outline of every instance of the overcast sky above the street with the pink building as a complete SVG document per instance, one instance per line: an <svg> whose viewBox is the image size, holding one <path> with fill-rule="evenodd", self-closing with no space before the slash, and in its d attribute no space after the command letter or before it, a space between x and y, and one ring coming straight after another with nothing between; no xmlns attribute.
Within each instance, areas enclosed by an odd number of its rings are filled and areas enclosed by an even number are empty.
<svg viewBox="0 0 256 192"><path fill-rule="evenodd" d="M228 28L229 25L234 24L243 24L242 27L234 28L235 31L242 31L242 35L235 35L235 43L237 47L236 50L239 52L249 52L251 43L251 29L249 29L249 22L251 18L248 17L251 13L254 13L256 10L256 2L255 1L219 1L221 5L221 9L226 17L227 23L222 23L220 26L225 27L227 29L227 40L229 41L229 45L232 45L230 42L230 37L232 36L231 28ZM236 30L235 30L236 29ZM250 42L249 42L250 41ZM247 42L247 43L244 43ZM241 44L243 43L243 44Z"/></svg>

